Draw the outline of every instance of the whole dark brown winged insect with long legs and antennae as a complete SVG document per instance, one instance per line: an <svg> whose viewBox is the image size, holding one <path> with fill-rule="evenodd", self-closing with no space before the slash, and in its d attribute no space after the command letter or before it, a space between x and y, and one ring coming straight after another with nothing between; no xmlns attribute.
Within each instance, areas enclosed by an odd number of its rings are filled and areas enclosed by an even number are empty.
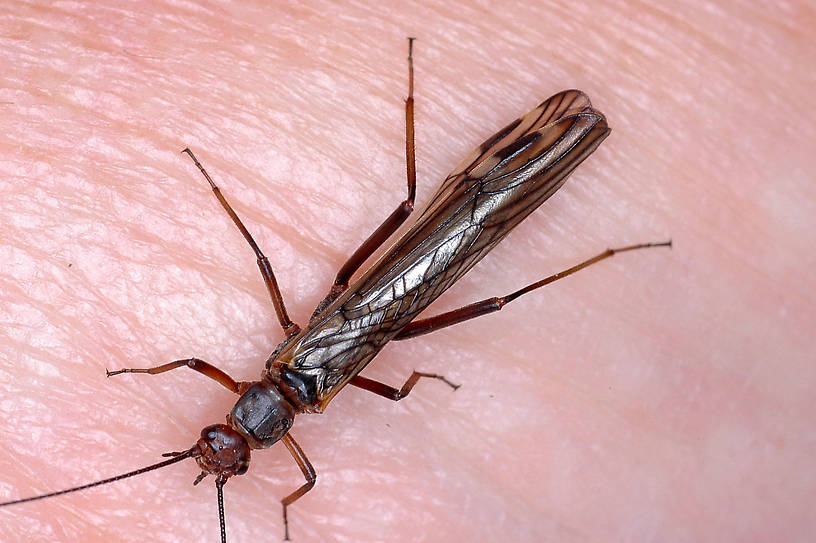
<svg viewBox="0 0 816 543"><path fill-rule="evenodd" d="M166 453L162 462L101 481L57 492L0 503L21 504L77 492L193 458L201 474L193 484L213 475L217 488L221 541L226 541L223 487L246 473L250 451L283 442L305 482L285 496L284 539L289 539L287 507L309 492L317 474L289 430L295 415L320 413L346 385L397 401L422 378L442 375L414 371L400 388L360 375L391 340L427 334L500 310L516 298L624 251L670 247L671 241L608 249L560 273L506 296L489 298L435 317L416 319L440 294L484 257L510 230L558 190L570 173L609 135L606 118L578 90L555 94L480 145L457 166L431 197L413 226L353 283L360 266L405 222L414 208L413 38L408 40L408 98L405 101L408 196L340 268L328 295L305 328L290 320L272 266L210 175L189 149L184 149L210 184L252 250L286 335L266 361L258 381L235 381L218 368L190 358L153 368L109 371L156 375L187 367L209 377L240 397L226 417L201 431L189 449Z"/></svg>

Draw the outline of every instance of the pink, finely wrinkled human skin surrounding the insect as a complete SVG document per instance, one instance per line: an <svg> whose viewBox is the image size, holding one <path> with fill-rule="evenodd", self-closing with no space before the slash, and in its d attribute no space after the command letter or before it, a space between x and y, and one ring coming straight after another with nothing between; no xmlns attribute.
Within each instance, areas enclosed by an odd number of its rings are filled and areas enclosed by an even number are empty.
<svg viewBox="0 0 816 543"><path fill-rule="evenodd" d="M60 8L0 18L0 496L189 447L283 337L253 256L305 324L404 198L416 44L418 204L472 148L563 88L610 138L427 314L629 253L500 314L389 345L293 435L318 471L295 541L767 541L812 533L816 15L638 2ZM698 5L699 4L699 5ZM671 7L669 7L671 6ZM401 13L401 11L405 11ZM810 143L808 143L810 142ZM2 541L215 541L192 462L0 511ZM231 541L282 536L283 447L226 486Z"/></svg>

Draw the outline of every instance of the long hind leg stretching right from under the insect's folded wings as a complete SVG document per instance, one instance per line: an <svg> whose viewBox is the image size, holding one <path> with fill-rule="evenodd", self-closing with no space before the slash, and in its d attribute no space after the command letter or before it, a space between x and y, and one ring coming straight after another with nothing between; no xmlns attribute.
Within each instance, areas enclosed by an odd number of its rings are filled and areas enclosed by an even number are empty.
<svg viewBox="0 0 816 543"><path fill-rule="evenodd" d="M546 277L540 281L536 281L535 283L531 283L524 288L508 294L507 296L488 298L480 302L466 305L465 307L460 307L459 309L454 309L453 311L448 311L447 313L442 313L441 315L437 315L435 317L414 321L403 328L400 333L394 337L394 339L409 339L412 337L421 336L423 334L429 334L431 332L435 332L436 330L440 330L454 324L459 324L460 322L475 319L476 317L481 317L482 315L487 315L488 313L493 313L494 311L500 310L502 307L523 294L527 294L528 292L541 288L544 285L548 285L554 281L563 279L568 275L572 275L579 270L600 262L601 260L605 260L617 253L634 251L635 249L648 249L650 247L671 247L671 240L662 243L641 243L639 245L630 245L620 249L607 249L606 251L585 260L576 266L556 273L555 275ZM352 384L354 383L352 382Z"/></svg>

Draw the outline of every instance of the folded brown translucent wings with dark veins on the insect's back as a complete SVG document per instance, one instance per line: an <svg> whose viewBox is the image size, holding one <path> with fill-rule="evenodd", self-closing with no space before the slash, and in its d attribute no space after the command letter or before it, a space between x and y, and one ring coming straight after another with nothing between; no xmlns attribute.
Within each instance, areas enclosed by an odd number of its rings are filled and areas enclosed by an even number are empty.
<svg viewBox="0 0 816 543"><path fill-rule="evenodd" d="M290 368L315 378L325 406L608 134L603 114L570 90L488 139L445 179L417 222L298 338Z"/></svg>

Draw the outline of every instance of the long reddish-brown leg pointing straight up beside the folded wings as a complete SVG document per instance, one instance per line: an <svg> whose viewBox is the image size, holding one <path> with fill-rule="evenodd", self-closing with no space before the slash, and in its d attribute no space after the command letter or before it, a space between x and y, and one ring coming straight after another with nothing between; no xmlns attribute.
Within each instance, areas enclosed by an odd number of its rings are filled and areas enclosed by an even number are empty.
<svg viewBox="0 0 816 543"><path fill-rule="evenodd" d="M408 98L405 100L405 162L408 174L408 198L349 257L334 279L328 296L318 305L319 313L348 288L349 279L385 241L397 231L414 210L416 198L416 151L414 147L414 38L408 38Z"/></svg>

